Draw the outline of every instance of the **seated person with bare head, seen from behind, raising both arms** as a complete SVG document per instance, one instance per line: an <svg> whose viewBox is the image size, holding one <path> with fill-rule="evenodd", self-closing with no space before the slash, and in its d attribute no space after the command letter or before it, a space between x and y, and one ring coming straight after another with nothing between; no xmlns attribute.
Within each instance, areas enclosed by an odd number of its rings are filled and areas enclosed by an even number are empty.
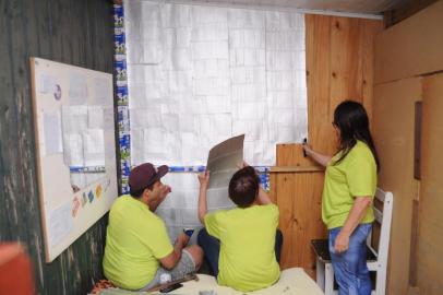
<svg viewBox="0 0 443 295"><path fill-rule="evenodd" d="M229 198L238 208L207 213L209 172L199 175L199 219L205 228L197 236L218 284L251 292L278 281L283 236L277 232L278 208L261 188L251 166L234 174Z"/></svg>

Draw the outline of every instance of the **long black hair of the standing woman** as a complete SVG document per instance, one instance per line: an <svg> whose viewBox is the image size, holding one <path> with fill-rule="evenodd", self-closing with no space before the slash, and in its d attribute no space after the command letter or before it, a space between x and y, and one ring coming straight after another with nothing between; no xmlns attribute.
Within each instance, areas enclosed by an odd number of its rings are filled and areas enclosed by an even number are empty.
<svg viewBox="0 0 443 295"><path fill-rule="evenodd" d="M334 165L340 163L356 145L357 140L364 142L375 158L376 169L380 170L379 156L369 130L369 119L364 107L354 101L340 103L334 110L333 125L340 131L338 152L340 157Z"/></svg>

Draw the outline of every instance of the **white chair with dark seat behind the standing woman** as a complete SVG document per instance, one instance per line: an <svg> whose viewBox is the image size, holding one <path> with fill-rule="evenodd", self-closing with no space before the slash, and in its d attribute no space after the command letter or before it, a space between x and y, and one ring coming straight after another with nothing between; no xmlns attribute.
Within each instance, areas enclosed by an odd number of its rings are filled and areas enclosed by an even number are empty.
<svg viewBox="0 0 443 295"><path fill-rule="evenodd" d="M376 189L375 198L383 202L383 211L374 208L375 221L381 225L379 251L371 246L372 234L368 236L368 269L375 272L375 288L371 295L384 295L386 291L387 252L390 249L391 221L393 209L393 193ZM325 295L337 294L334 290L334 270L331 263L327 239L311 240L316 253L316 284Z"/></svg>

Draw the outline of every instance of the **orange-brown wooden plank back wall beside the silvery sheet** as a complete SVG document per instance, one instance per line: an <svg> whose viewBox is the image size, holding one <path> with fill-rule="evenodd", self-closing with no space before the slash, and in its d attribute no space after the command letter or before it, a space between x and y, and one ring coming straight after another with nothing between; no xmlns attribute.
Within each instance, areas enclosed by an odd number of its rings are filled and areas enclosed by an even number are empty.
<svg viewBox="0 0 443 295"><path fill-rule="evenodd" d="M372 116L373 40L382 21L306 15L308 125L313 149L336 151L333 114L344 99L361 102ZM311 166L300 145L277 146L277 166ZM271 194L280 209L283 268L303 267L313 274L310 239L325 236L321 222L323 174L272 173Z"/></svg>

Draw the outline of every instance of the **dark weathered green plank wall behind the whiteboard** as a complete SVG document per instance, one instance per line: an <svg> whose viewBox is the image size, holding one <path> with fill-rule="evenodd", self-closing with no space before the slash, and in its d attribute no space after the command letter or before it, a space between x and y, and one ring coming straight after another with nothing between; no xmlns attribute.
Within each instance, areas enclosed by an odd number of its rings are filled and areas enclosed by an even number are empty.
<svg viewBox="0 0 443 295"><path fill-rule="evenodd" d="M46 264L38 202L29 57L112 73L108 0L0 1L0 240L31 255L39 294L86 294L103 278L106 219Z"/></svg>

